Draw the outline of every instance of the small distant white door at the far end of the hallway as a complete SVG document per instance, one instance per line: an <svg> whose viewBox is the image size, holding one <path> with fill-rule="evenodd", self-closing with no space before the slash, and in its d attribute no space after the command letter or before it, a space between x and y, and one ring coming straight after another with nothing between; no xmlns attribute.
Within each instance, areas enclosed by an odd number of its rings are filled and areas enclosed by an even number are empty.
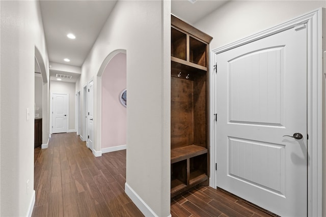
<svg viewBox="0 0 326 217"><path fill-rule="evenodd" d="M68 94L52 95L52 133L67 133Z"/></svg>

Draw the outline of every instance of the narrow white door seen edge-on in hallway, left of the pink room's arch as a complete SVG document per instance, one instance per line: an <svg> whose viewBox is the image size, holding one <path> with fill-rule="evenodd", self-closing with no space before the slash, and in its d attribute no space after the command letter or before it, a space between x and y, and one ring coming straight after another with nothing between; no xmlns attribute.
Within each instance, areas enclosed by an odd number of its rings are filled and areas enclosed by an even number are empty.
<svg viewBox="0 0 326 217"><path fill-rule="evenodd" d="M94 118L94 82L93 80L88 83L88 92L87 92L87 112L88 112L88 139L87 144L88 147L93 151L93 139L94 139L94 125L93 125L93 118Z"/></svg>

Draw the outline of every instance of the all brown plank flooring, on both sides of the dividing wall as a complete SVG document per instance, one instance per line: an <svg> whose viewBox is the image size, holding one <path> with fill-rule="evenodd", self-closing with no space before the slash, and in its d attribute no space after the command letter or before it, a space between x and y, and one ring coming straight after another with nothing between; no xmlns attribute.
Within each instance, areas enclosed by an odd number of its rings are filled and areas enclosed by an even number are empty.
<svg viewBox="0 0 326 217"><path fill-rule="evenodd" d="M126 150L95 158L75 133L35 149L32 216L144 216L124 193ZM273 216L230 194L198 187L171 200L172 217Z"/></svg>

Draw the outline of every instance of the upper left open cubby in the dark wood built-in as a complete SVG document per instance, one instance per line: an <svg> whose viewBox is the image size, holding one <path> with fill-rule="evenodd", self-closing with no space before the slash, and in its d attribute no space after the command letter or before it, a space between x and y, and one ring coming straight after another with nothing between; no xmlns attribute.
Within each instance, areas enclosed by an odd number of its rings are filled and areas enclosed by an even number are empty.
<svg viewBox="0 0 326 217"><path fill-rule="evenodd" d="M171 28L171 56L186 60L187 35Z"/></svg>

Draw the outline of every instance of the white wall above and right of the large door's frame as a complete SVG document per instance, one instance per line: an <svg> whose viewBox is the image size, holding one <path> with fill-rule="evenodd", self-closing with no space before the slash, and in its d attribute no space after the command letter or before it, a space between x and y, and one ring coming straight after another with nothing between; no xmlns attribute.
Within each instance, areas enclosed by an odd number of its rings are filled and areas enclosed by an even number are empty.
<svg viewBox="0 0 326 217"><path fill-rule="evenodd" d="M317 8L326 8L326 1L230 1L194 25L213 37L210 44L212 50L259 33ZM325 13L325 10L323 10L323 13ZM326 21L324 15L323 50L326 49L325 31ZM325 99L325 96L323 98ZM325 144L325 139L323 144ZM323 216L325 216L325 145L323 150Z"/></svg>

